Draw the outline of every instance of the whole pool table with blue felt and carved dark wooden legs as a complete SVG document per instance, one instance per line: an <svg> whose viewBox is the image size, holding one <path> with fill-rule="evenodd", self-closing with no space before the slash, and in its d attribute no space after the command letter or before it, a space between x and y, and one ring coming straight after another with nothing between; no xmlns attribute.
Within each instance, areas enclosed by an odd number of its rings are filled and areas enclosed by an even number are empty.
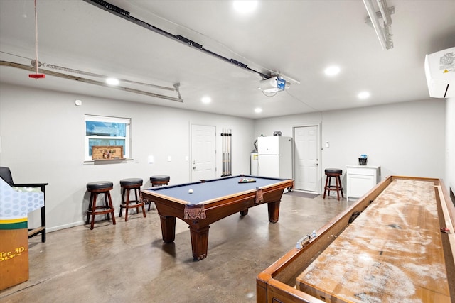
<svg viewBox="0 0 455 303"><path fill-rule="evenodd" d="M254 182L240 182L240 180ZM190 228L193 258L207 257L210 224L240 212L248 214L252 206L267 203L269 221L276 223L284 189L291 190L294 180L237 175L166 187L142 189L142 199L154 202L161 220L166 243L176 237L176 218Z"/></svg>

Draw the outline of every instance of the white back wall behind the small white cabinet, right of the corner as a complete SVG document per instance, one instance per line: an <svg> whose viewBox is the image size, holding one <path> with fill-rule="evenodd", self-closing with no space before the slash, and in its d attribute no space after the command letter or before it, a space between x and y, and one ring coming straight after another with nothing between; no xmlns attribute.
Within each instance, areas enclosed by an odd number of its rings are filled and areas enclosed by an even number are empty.
<svg viewBox="0 0 455 303"><path fill-rule="evenodd" d="M444 178L445 100L431 99L371 106L319 114L299 114L255 121L255 136L282 131L291 136L294 126L321 123L321 188L323 168L343 169L357 164L360 154L369 165L381 166L381 177L406 175ZM323 144L325 146L325 144Z"/></svg>

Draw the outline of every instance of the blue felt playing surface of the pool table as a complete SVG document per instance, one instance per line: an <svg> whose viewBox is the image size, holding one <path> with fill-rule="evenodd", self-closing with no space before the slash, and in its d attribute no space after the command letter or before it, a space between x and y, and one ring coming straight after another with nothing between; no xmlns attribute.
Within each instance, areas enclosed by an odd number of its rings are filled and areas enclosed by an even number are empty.
<svg viewBox="0 0 455 303"><path fill-rule="evenodd" d="M242 178L254 179L256 182L239 183ZM264 188L283 182L284 179L257 177L257 176L234 176L223 177L206 182L191 182L166 187L152 187L145 190L151 190L156 194L161 194L172 199L178 199L187 204L205 204L213 199L227 197L240 192L255 191L257 188ZM193 189L193 193L188 192Z"/></svg>

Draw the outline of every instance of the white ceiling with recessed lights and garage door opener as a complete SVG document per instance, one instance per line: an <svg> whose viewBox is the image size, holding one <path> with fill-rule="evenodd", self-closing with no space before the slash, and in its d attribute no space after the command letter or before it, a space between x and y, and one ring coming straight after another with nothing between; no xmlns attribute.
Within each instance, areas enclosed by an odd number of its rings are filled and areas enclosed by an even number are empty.
<svg viewBox="0 0 455 303"><path fill-rule="evenodd" d="M0 67L2 85L63 90L82 100L85 94L257 119L429 99L424 56L455 46L454 0L387 1L395 7L390 50L382 50L365 23L368 14L360 0L259 1L250 15L236 13L232 1L107 2L252 70L280 72L291 87L267 97L258 89L258 73L82 0L37 0L38 60L166 87L180 83L183 103L52 75L34 80L28 77L33 72L8 66ZM0 0L0 47L1 60L31 65L36 56L33 0ZM326 77L328 65L339 65L341 73ZM363 90L370 92L369 99L357 98ZM163 89L151 92L178 97ZM202 104L204 96L212 99L210 104ZM255 113L257 107L262 113Z"/></svg>

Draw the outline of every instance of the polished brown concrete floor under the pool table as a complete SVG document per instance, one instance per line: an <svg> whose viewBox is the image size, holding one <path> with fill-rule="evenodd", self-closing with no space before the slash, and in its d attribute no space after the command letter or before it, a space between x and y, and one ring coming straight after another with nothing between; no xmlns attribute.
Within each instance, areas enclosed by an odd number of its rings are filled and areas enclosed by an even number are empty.
<svg viewBox="0 0 455 303"><path fill-rule="evenodd" d="M36 236L29 280L0 291L0 302L256 302L257 274L350 204L284 194L277 224L269 224L266 205L212 224L200 261L183 221L174 243L162 241L154 209L127 222L117 216L115 226L54 231L45 243Z"/></svg>

